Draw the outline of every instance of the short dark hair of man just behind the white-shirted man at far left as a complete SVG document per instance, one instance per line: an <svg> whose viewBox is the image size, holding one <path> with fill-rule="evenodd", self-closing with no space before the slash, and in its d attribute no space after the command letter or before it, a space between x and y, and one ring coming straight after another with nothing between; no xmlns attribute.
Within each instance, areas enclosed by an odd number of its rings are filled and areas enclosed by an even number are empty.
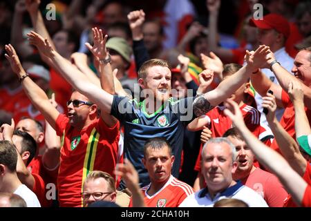
<svg viewBox="0 0 311 221"><path fill-rule="evenodd" d="M17 135L21 138L21 153L25 151L29 151L30 156L28 158L28 161L26 163L26 166L30 163L33 157L35 157L35 154L37 152L37 143L35 142L35 139L29 133L23 132L23 131L17 131L15 130L13 135Z"/></svg>

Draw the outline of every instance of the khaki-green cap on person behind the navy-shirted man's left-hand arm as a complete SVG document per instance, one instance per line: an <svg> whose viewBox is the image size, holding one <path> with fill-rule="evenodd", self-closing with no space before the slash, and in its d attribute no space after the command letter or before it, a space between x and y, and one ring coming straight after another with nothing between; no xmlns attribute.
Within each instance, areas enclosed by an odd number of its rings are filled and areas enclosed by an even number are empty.
<svg viewBox="0 0 311 221"><path fill-rule="evenodd" d="M115 50L126 61L131 62L132 48L122 37L112 37L106 43L106 48Z"/></svg>

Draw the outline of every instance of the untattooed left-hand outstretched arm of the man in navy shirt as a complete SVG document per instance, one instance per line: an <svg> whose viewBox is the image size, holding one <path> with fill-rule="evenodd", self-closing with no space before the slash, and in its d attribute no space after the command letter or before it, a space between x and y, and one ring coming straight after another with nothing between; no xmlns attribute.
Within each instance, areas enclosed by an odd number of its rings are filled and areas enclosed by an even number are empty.
<svg viewBox="0 0 311 221"><path fill-rule="evenodd" d="M73 64L71 64L64 57L59 55L52 46L48 39L44 39L36 32L28 33L28 39L30 44L35 45L39 51L49 57L59 73L76 89L79 93L82 93L94 104L100 106L100 110L105 113L111 112L111 105L113 103L113 95L106 93L102 88L98 88Z"/></svg>

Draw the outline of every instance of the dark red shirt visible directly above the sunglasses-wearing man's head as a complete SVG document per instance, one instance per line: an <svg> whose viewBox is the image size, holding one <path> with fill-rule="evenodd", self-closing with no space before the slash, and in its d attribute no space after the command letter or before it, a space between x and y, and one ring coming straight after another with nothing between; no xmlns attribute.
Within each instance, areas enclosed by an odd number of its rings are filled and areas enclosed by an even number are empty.
<svg viewBox="0 0 311 221"><path fill-rule="evenodd" d="M60 104L67 112L66 102L70 99L72 93L71 85L59 75L53 68L50 68L50 89L55 93L55 101Z"/></svg>

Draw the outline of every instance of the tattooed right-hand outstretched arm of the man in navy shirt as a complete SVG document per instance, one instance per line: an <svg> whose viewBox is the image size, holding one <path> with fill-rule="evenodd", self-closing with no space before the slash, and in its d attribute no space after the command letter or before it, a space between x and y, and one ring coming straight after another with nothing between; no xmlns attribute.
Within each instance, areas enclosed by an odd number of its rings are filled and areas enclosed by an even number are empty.
<svg viewBox="0 0 311 221"><path fill-rule="evenodd" d="M249 78L250 73L263 66L266 61L269 47L259 46L254 53L246 51L247 65L243 66L234 75L227 77L220 82L217 88L211 90L194 100L194 114L198 117L205 115L214 106L225 101Z"/></svg>

